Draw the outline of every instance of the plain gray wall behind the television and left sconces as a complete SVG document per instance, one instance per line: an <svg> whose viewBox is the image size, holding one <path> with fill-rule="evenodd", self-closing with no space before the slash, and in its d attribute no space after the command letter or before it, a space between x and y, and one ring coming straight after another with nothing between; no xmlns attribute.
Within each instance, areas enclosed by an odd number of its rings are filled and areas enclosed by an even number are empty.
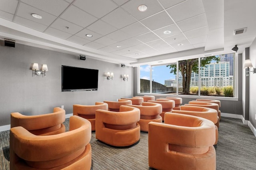
<svg viewBox="0 0 256 170"><path fill-rule="evenodd" d="M32 63L47 64L46 77L34 76ZM61 91L61 65L99 70L98 91ZM106 79L106 72L114 72L113 80ZM121 78L129 74L128 81ZM0 126L10 124L10 113L24 115L52 113L53 107L64 105L66 114L73 113L73 104L93 105L104 100L133 96L133 69L76 55L30 47L16 43L5 47L0 41ZM81 80L90 81L90 76L81 75Z"/></svg>

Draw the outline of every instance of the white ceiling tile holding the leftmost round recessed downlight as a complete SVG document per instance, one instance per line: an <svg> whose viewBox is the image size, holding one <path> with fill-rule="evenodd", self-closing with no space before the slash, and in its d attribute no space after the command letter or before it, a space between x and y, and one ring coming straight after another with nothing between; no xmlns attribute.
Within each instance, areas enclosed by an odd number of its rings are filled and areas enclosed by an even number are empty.
<svg viewBox="0 0 256 170"><path fill-rule="evenodd" d="M39 14L40 16L42 16L42 19L36 19L32 17L31 16L32 13ZM52 14L48 14L46 12L38 10L37 8L34 8L22 2L20 3L18 12L16 15L37 23L41 23L43 25L50 25L54 20L56 20L56 16L53 16Z"/></svg>

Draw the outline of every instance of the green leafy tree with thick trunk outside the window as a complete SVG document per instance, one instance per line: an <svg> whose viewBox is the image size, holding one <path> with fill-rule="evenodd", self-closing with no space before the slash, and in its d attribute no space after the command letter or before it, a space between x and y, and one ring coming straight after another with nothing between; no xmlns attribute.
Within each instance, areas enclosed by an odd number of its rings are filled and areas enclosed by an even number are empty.
<svg viewBox="0 0 256 170"><path fill-rule="evenodd" d="M201 59L201 68L207 64L210 64L211 61L220 61L220 57L211 56L211 57L202 57ZM170 67L170 73L177 74L176 64L166 65ZM182 94L190 94L190 82L191 82L191 73L198 73L198 59L188 59L178 62L179 72L182 75Z"/></svg>

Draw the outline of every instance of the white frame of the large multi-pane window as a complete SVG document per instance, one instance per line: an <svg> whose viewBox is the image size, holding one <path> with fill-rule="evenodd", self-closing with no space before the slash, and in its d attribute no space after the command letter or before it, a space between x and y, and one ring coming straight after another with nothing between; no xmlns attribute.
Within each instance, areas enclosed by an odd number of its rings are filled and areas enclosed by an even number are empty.
<svg viewBox="0 0 256 170"><path fill-rule="evenodd" d="M234 54L234 58L233 58L233 61L234 61L234 65L233 65L233 69L234 69L234 75L233 75L233 88L234 88L234 96L233 97L221 97L221 96L202 96L200 95L200 87L201 87L201 82L200 82L200 59L202 57L194 57L194 58L191 58L191 59L198 59L198 79L199 79L199 82L198 82L198 95L180 95L178 94L178 83L177 83L177 93L176 94L158 94L158 93L152 93L152 66L160 66L160 65L168 65L168 64L157 64L157 65L151 65L150 67L150 93L141 93L140 92L140 66L138 66L138 94L139 95L156 95L156 96L176 96L176 97L184 97L184 98L209 98L209 99L219 99L219 100L233 100L233 101L237 101L238 100L238 54L235 53ZM171 61L170 63L175 63L177 64L177 68L178 68L178 61L182 61L181 59L180 60L176 60L176 61ZM210 68L209 68L210 69ZM178 77L178 72L176 74L176 76ZM221 73L220 73L221 74ZM178 78L177 78L178 80Z"/></svg>

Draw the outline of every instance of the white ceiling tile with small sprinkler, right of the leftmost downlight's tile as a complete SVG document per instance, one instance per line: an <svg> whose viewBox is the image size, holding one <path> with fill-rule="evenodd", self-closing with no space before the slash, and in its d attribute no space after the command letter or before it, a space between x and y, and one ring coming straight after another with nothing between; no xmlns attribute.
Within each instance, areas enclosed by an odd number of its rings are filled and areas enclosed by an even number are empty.
<svg viewBox="0 0 256 170"><path fill-rule="evenodd" d="M64 31L66 33L70 33L70 34L75 34L81 29L83 29L83 27L80 27L74 23L68 22L61 18L58 18L57 20L55 20L54 23L52 23L51 27L55 29L59 29L60 31Z"/></svg>

